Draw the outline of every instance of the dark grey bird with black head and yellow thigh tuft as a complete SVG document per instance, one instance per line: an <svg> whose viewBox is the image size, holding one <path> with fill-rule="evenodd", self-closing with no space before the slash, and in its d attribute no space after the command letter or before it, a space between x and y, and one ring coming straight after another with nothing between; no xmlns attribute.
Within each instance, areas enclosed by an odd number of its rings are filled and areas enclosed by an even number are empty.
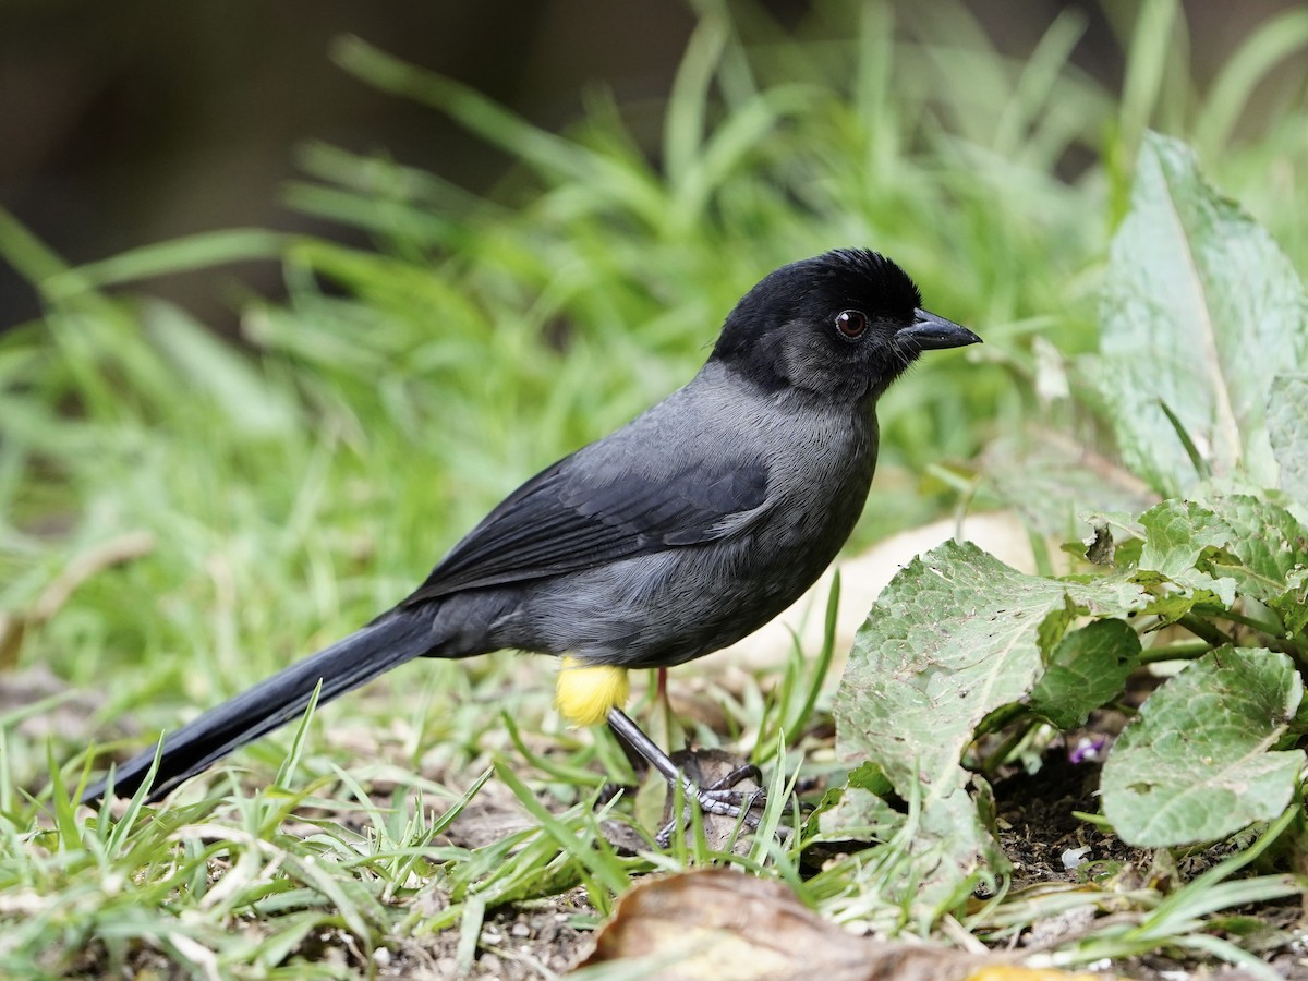
<svg viewBox="0 0 1308 981"><path fill-rule="evenodd" d="M146 781L157 802L315 697L409 661L517 649L559 658L569 723L607 722L685 800L739 816L730 790L695 786L627 715L628 671L726 647L798 599L863 511L879 396L922 352L977 343L880 252L770 272L683 387L522 484L391 610L165 732L82 803Z"/></svg>

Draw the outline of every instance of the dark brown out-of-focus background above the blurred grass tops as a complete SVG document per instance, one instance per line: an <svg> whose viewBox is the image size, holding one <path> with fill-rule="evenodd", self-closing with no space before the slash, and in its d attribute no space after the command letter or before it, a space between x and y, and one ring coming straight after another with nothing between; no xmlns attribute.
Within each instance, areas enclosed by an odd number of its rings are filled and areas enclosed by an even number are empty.
<svg viewBox="0 0 1308 981"><path fill-rule="evenodd" d="M1063 5L967 4L999 50L1016 56ZM1186 4L1197 78L1211 76L1250 25L1288 5ZM814 30L810 4L760 7L787 31ZM912 31L914 3L896 7ZM1078 7L1090 29L1076 60L1116 88L1122 59L1109 14L1129 22L1134 4ZM357 34L548 128L579 115L587 86L608 86L633 107L637 135L653 149L658 103L695 21L691 5L672 0L0 0L0 207L72 263L243 225L340 237L280 203L305 140L385 148L476 191L509 161L439 114L336 68L334 38ZM277 292L272 263L237 273ZM150 289L225 326L228 281L199 272ZM0 330L38 313L31 288L0 263Z"/></svg>

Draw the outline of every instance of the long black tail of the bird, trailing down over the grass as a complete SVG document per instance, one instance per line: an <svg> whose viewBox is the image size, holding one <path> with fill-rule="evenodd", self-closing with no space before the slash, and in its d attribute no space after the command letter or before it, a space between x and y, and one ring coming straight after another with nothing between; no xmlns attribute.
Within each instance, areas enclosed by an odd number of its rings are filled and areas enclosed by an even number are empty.
<svg viewBox="0 0 1308 981"><path fill-rule="evenodd" d="M158 800L234 749L302 715L319 680L322 692L318 702L322 704L430 650L432 610L392 610L349 637L165 735L149 799ZM150 747L116 768L116 795L131 797L137 791L154 764L156 749ZM102 780L92 785L82 794L82 803L102 798L105 783Z"/></svg>

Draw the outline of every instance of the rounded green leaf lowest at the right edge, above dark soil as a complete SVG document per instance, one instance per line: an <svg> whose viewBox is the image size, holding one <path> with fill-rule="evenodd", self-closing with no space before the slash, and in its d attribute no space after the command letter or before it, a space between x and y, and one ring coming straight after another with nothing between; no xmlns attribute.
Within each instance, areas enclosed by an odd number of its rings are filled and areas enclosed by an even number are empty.
<svg viewBox="0 0 1308 981"><path fill-rule="evenodd" d="M1104 764L1104 814L1122 841L1211 841L1284 811L1304 753L1273 747L1301 695L1290 658L1261 647L1219 647L1169 679Z"/></svg>

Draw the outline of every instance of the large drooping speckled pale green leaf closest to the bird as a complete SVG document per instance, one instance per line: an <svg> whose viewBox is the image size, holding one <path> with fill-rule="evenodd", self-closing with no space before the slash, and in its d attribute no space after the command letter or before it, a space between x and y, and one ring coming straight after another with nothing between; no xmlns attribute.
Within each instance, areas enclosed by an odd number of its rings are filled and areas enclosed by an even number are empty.
<svg viewBox="0 0 1308 981"><path fill-rule="evenodd" d="M1073 610L1120 616L1147 602L1125 576L1046 579L956 543L914 559L887 586L836 695L836 749L852 766L880 764L903 798L922 800L914 849L939 862L923 874L927 886L947 891L1005 863L960 760L989 713L1031 691L1044 671L1041 640L1056 642Z"/></svg>

